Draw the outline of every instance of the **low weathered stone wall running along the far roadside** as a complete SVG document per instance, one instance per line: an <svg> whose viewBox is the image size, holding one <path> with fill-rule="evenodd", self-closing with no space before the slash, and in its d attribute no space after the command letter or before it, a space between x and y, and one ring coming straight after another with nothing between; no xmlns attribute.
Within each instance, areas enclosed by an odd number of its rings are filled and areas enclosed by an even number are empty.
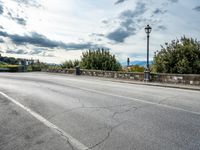
<svg viewBox="0 0 200 150"><path fill-rule="evenodd" d="M76 74L75 69L66 69L66 70L54 69L54 70L43 70L43 71L64 73L64 74ZM136 72L115 72L115 71L81 69L80 74L85 76L116 78L116 79L134 80L134 81L144 80L144 73L136 73ZM200 75L151 73L151 82L200 85Z"/></svg>

